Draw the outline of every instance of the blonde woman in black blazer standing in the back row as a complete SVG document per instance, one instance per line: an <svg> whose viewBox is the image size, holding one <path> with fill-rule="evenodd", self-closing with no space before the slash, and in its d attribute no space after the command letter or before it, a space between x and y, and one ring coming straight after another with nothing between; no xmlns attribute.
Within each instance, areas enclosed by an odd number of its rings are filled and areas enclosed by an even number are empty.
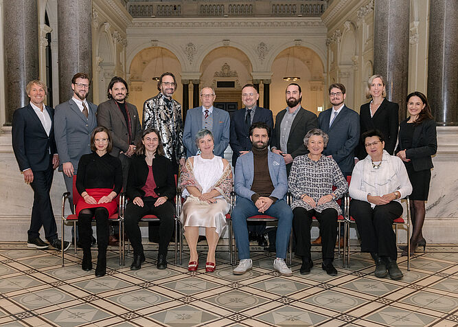
<svg viewBox="0 0 458 327"><path fill-rule="evenodd" d="M398 139L399 105L385 99L385 80L380 75L374 75L367 80L366 98L372 100L360 107L359 123L360 135L367 131L378 129L385 137L385 150L390 155L394 154L396 140ZM356 149L358 159L362 160L367 156L363 142L360 142Z"/></svg>

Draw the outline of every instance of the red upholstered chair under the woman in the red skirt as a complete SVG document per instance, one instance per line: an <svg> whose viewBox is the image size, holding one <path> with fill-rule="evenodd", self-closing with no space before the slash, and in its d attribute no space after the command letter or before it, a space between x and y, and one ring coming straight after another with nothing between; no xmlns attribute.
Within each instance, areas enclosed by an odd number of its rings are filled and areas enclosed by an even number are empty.
<svg viewBox="0 0 458 327"><path fill-rule="evenodd" d="M69 214L65 216L65 203L67 203L67 199L70 196L70 192L65 192L62 194L62 230L60 231L62 235L62 242L64 241L64 226L67 223L73 223L73 240L75 240L75 253L77 253L77 245L76 245L76 223L78 222L78 216L76 214ZM118 209L115 214L112 214L111 216L108 217L108 221L113 221L117 222L119 224L119 235L124 235L123 229L124 229L124 221L122 219L122 211L123 208L121 207L119 201L119 198L122 197L119 194L116 196L115 201L118 203ZM76 203L78 203L79 199L81 198L80 193L78 193L78 190L76 190L76 174L73 175L73 212L76 211ZM122 247L121 247L121 242L119 242L119 266L124 264L124 256L122 255ZM64 250L62 247L61 251L61 256L62 256L62 267L64 267Z"/></svg>

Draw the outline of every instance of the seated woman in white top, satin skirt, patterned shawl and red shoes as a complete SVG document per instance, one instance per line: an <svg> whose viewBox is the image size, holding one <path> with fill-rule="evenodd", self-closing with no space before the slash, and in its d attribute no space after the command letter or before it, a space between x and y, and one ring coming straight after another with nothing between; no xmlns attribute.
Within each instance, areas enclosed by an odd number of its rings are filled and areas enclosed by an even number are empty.
<svg viewBox="0 0 458 327"><path fill-rule="evenodd" d="M226 214L230 207L232 170L226 159L213 154L214 138L210 131L202 129L196 135L201 151L187 159L181 171L181 187L186 201L180 220L190 247L188 271L198 266L197 240L199 227L205 227L208 242L205 271L215 271L215 250L226 227Z"/></svg>

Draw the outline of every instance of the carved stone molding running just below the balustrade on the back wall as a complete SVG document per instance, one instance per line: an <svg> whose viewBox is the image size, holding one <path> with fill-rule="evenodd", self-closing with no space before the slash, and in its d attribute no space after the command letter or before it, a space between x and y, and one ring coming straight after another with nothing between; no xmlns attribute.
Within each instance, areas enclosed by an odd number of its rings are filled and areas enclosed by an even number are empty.
<svg viewBox="0 0 458 327"><path fill-rule="evenodd" d="M321 21L137 21L132 27L323 27Z"/></svg>

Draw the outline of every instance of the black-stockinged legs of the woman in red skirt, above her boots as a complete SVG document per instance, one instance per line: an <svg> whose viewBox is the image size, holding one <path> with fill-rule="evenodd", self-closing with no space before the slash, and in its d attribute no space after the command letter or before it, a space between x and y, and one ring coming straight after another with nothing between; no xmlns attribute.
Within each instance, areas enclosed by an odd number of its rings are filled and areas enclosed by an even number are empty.
<svg viewBox="0 0 458 327"><path fill-rule="evenodd" d="M108 223L108 210L104 207L87 208L78 214L78 236L83 249L91 249L92 243L92 217L95 217L95 232L97 233L97 247L99 253L104 255L108 247L110 234Z"/></svg>

